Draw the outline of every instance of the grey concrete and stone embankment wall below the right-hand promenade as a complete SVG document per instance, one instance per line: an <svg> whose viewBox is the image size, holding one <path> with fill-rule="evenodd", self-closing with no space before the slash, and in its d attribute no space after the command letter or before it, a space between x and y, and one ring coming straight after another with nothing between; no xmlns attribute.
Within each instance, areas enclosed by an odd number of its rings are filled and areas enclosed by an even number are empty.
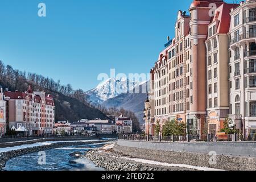
<svg viewBox="0 0 256 182"><path fill-rule="evenodd" d="M256 143L164 143L118 140L114 150L134 158L224 170L256 170ZM211 155L209 152L214 151ZM216 154L216 156L213 156Z"/></svg>

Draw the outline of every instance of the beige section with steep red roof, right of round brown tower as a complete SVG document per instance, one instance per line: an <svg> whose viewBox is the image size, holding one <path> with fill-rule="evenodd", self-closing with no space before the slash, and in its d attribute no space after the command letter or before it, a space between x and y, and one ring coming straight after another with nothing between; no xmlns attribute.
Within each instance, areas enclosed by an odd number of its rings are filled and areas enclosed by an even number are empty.
<svg viewBox="0 0 256 182"><path fill-rule="evenodd" d="M207 116L208 133L217 133L224 127L229 114L229 51L228 32L230 11L237 5L222 4L208 25L207 48ZM241 129L241 125L237 125Z"/></svg>

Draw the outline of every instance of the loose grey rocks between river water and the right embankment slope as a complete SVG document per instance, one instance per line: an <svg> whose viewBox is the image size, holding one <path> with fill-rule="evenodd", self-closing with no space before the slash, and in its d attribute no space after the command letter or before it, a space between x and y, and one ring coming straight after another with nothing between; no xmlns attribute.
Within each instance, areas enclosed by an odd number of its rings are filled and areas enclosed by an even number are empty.
<svg viewBox="0 0 256 182"><path fill-rule="evenodd" d="M90 150L81 158L91 160L97 167L108 171L194 171L195 169L183 167L165 167L153 164L134 162L125 156L114 152L112 148L103 147L100 150Z"/></svg>

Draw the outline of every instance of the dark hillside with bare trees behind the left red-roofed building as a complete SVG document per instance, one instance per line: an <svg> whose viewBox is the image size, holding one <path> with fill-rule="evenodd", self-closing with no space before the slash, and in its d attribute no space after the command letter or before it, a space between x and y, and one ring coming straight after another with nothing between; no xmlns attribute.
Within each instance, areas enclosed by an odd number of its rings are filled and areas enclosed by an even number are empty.
<svg viewBox="0 0 256 182"><path fill-rule="evenodd" d="M55 101L55 121L77 121L79 119L107 119L106 115L88 103L83 90L73 90L70 84L61 85L60 80L44 77L36 73L21 72L0 61L0 85L10 91L26 91L28 85L34 90L44 90L52 94Z"/></svg>

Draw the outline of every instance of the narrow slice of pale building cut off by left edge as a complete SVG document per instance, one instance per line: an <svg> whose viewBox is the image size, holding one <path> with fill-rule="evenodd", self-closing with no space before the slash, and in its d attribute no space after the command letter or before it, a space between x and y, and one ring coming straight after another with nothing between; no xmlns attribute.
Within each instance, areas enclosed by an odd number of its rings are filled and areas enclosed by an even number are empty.
<svg viewBox="0 0 256 182"><path fill-rule="evenodd" d="M1 86L0 86L1 87ZM3 97L3 89L0 88L0 137L6 132L6 101Z"/></svg>

